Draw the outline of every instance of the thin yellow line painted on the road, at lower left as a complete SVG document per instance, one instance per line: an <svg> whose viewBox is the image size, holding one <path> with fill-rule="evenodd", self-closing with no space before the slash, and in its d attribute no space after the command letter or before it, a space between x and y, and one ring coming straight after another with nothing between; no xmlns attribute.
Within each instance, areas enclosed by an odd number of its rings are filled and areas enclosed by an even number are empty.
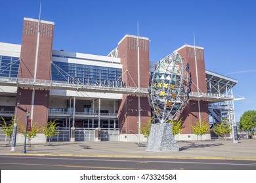
<svg viewBox="0 0 256 183"><path fill-rule="evenodd" d="M45 166L45 167L73 167L73 168L90 168L90 169L119 169L119 170L146 170L146 169L129 169L120 167L93 167L93 166L76 166L76 165L50 165L50 164L33 164L33 163L0 163L2 165L30 165L30 166Z"/></svg>

